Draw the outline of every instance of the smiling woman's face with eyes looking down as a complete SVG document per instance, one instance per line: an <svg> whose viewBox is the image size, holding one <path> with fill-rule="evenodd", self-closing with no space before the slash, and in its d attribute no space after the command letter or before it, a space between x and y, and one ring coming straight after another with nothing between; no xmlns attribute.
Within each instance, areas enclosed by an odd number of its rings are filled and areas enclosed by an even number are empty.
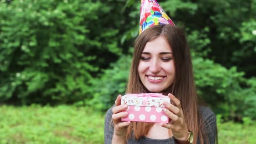
<svg viewBox="0 0 256 144"><path fill-rule="evenodd" d="M159 36L145 45L138 70L141 82L150 92L159 93L173 83L173 55L165 37Z"/></svg>

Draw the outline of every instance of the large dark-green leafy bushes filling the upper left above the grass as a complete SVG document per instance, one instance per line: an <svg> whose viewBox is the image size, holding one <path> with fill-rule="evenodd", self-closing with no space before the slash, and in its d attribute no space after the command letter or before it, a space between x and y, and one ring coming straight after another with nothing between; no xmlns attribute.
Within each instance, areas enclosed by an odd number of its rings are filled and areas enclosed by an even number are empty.
<svg viewBox="0 0 256 144"><path fill-rule="evenodd" d="M112 11L92 0L0 1L0 102L86 98L88 81L121 53Z"/></svg>

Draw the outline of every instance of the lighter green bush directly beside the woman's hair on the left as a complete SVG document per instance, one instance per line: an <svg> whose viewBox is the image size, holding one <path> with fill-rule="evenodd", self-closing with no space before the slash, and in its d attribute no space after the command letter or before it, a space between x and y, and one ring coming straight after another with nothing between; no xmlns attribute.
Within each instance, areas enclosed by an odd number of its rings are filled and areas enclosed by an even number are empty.
<svg viewBox="0 0 256 144"><path fill-rule="evenodd" d="M109 69L104 70L99 79L91 80L93 99L88 100L88 105L106 110L114 104L118 94L124 94L131 59L130 55L122 56L115 64L111 64Z"/></svg>

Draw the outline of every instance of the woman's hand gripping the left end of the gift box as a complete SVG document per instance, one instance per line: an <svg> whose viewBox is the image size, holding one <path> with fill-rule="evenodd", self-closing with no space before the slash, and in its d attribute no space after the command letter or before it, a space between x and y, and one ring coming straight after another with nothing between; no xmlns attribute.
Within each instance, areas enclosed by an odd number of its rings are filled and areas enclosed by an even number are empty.
<svg viewBox="0 0 256 144"><path fill-rule="evenodd" d="M113 107L112 112L112 120L114 124L114 136L115 138L124 138L127 133L128 125L131 124L130 121L128 122L122 122L121 118L126 117L128 115L128 112L125 111L125 109L128 108L128 105L121 104L121 95L117 96L117 99L115 100L115 107Z"/></svg>

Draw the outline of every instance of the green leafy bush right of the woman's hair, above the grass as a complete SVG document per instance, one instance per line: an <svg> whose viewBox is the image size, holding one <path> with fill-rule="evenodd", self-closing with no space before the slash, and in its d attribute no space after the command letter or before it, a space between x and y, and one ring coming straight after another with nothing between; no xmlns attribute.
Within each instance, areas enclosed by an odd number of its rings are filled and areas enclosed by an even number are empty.
<svg viewBox="0 0 256 144"><path fill-rule="evenodd" d="M243 72L237 72L236 67L226 69L211 60L194 58L195 83L197 93L216 113L225 118L234 119L243 116L256 118L256 92L252 85L243 78ZM255 80L249 80L255 83ZM250 102L248 102L250 101Z"/></svg>

